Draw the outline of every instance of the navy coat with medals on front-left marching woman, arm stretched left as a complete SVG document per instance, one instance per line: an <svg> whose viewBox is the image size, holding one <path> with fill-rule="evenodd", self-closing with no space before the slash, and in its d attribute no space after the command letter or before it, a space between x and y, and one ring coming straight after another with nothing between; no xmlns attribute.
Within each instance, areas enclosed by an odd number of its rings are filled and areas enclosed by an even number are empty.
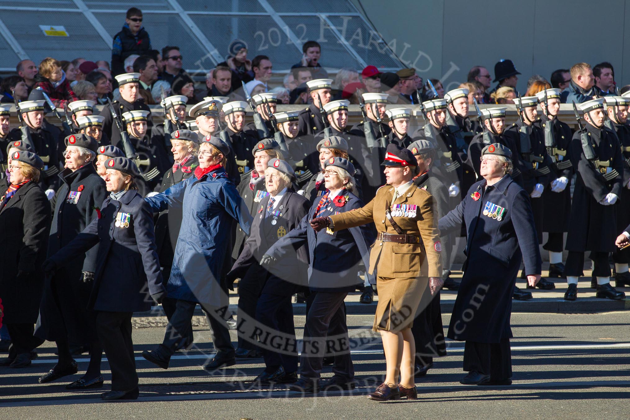
<svg viewBox="0 0 630 420"><path fill-rule="evenodd" d="M151 309L151 295L164 291L151 206L136 190L129 190L120 201L105 198L100 213L50 259L62 266L98 244L88 307L106 312ZM120 226L124 215L130 216L129 226Z"/></svg>

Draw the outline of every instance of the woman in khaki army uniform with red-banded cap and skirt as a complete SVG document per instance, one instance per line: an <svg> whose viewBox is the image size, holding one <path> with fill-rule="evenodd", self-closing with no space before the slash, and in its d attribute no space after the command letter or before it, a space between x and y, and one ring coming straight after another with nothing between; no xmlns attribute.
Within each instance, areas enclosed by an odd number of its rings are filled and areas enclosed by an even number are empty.
<svg viewBox="0 0 630 420"><path fill-rule="evenodd" d="M389 144L382 162L387 185L377 191L374 200L353 212L311 221L315 230L327 227L334 231L374 222L379 231L370 253L369 273L377 271L379 304L373 329L381 333L387 372L384 383L369 395L373 400L417 398L411 326L416 309L426 307L430 295L443 283L442 244L433 219L433 198L413 184L417 165L411 150Z"/></svg>

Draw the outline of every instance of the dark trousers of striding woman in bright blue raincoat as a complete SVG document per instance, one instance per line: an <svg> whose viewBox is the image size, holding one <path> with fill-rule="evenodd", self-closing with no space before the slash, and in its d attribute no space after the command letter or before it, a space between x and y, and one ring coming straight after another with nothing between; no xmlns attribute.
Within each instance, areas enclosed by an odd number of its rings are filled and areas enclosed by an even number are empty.
<svg viewBox="0 0 630 420"><path fill-rule="evenodd" d="M192 334L190 321L193 319L196 306L197 302L188 300L177 300L175 302L175 312L171 315L171 319L166 326L166 334L164 334L164 341L161 346L161 349L166 353L164 356L169 357L173 355L180 346L182 338L188 338ZM212 337L214 348L217 350L217 355L221 353L221 356L233 357L234 347L232 347L230 331L227 329L225 321L225 315L229 314L227 308L203 307L202 305L202 309L210 325L210 336Z"/></svg>

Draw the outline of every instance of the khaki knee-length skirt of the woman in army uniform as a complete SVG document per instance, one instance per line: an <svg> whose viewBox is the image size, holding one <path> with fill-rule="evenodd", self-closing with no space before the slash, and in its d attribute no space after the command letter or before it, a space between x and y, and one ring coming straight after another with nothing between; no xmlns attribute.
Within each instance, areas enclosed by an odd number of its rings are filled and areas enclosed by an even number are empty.
<svg viewBox="0 0 630 420"><path fill-rule="evenodd" d="M379 302L372 331L399 332L413 326L413 319L431 302L428 277L386 278L377 276ZM426 301L426 302L425 302Z"/></svg>

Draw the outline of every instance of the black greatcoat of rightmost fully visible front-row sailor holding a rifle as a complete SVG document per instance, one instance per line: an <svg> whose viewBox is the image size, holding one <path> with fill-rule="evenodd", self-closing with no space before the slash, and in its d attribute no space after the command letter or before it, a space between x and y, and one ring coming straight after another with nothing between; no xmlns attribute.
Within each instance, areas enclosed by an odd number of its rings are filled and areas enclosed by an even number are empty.
<svg viewBox="0 0 630 420"><path fill-rule="evenodd" d="M604 178L600 168L584 156L580 131L575 132L570 149L571 163L577 173L570 217L570 226L575 229L569 229L566 250L610 253L616 250L615 240L619 234L616 229L619 203L602 205L599 202L608 193L621 198L623 157L617 137L607 128L599 129L589 123L585 128L599 161L610 162L609 168L616 170L617 176L610 181Z"/></svg>

